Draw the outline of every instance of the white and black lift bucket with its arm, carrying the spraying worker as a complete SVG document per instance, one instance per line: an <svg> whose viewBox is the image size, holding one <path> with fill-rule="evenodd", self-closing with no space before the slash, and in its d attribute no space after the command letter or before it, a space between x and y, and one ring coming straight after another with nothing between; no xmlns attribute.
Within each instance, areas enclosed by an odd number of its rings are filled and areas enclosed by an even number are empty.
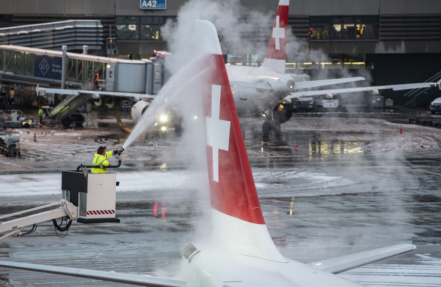
<svg viewBox="0 0 441 287"><path fill-rule="evenodd" d="M118 164L107 168L121 165L121 158L117 157ZM14 218L0 222L0 241L30 234L38 223L48 221L52 221L60 232L67 232L73 220L80 223L120 222L115 212L116 186L119 184L116 173L92 174L87 169L90 167L95 166L80 165L76 170L62 171L60 201L0 216L0 220ZM61 226L64 220L66 225ZM30 229L24 231L26 227Z"/></svg>

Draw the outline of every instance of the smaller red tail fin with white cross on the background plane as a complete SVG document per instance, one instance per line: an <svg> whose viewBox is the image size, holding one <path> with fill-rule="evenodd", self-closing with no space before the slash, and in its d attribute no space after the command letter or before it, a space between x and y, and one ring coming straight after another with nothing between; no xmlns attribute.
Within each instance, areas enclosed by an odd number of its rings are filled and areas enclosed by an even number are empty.
<svg viewBox="0 0 441 287"><path fill-rule="evenodd" d="M288 25L289 0L279 0L271 38L262 66L285 73L286 34Z"/></svg>

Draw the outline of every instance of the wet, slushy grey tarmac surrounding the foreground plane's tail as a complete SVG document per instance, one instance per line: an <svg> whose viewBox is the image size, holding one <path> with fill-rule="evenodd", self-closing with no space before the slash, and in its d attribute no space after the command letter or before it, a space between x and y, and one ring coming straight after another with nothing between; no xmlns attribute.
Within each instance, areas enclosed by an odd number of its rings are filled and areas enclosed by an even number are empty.
<svg viewBox="0 0 441 287"><path fill-rule="evenodd" d="M285 257L311 262L412 243L414 252L341 275L368 286L441 286L441 135L409 124L407 116L401 110L299 113L282 125L281 141L262 141L259 119L240 119L266 223ZM81 144L93 148L98 141L82 131L70 132L81 142L69 132L60 137L75 152ZM8 163L17 171L0 170L0 214L60 199L57 168L87 160L82 153L48 155L64 132L55 130L41 146L25 143L24 158ZM99 133L110 145L123 141L112 128ZM120 223L75 222L66 237L52 223L39 224L31 235L1 242L0 259L173 276L182 247L190 241L197 247L210 228L201 195L205 174L181 141L144 138L127 149L117 176ZM5 286L110 284L6 268L1 280Z"/></svg>

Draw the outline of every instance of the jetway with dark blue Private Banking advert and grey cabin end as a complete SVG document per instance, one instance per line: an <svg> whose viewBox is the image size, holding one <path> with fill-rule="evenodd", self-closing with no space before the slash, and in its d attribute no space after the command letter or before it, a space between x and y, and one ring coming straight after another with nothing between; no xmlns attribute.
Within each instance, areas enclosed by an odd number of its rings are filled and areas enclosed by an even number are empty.
<svg viewBox="0 0 441 287"><path fill-rule="evenodd" d="M67 52L66 46L55 51L0 45L0 82L79 89L98 74L105 91L157 94L164 83L162 59L107 58Z"/></svg>

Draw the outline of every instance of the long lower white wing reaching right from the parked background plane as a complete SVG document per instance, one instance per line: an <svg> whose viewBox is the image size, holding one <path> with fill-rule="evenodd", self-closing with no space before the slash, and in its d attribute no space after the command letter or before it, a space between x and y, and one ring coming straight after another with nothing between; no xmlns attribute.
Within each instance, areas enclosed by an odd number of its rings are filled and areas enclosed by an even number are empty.
<svg viewBox="0 0 441 287"><path fill-rule="evenodd" d="M304 97L304 96L342 94L342 93L364 92L364 91L378 91L378 90L385 90L385 89L393 89L394 91L401 91L401 90L410 90L410 89L429 88L431 86L436 86L436 85L437 85L437 83L414 83L414 84L384 85L384 86L370 86L370 87L355 87L355 88L303 91L303 92L291 93L285 97L285 100L289 100L291 98L300 98L300 97Z"/></svg>

